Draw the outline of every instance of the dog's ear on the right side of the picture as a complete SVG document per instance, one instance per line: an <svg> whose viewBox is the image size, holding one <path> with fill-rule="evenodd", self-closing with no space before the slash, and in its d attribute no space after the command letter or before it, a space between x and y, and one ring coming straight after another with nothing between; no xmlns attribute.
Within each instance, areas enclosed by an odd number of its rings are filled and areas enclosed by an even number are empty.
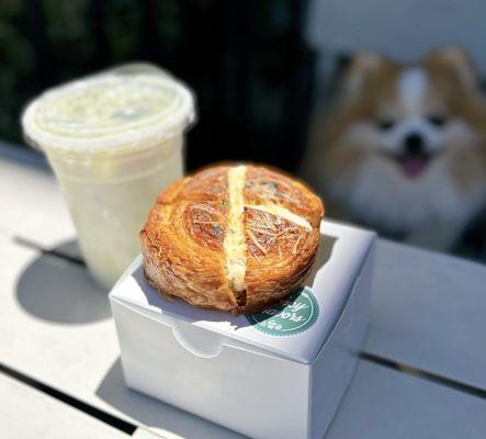
<svg viewBox="0 0 486 439"><path fill-rule="evenodd" d="M477 72L471 58L460 47L450 46L432 50L426 59L432 66L447 69L467 89L477 87Z"/></svg>

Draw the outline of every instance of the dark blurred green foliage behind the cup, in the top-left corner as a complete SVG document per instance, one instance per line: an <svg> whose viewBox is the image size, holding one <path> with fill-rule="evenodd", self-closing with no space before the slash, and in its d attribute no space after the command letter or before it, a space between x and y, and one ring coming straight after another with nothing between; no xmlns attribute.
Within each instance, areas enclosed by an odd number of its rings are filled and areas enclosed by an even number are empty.
<svg viewBox="0 0 486 439"><path fill-rule="evenodd" d="M178 3L156 2L166 19L158 30L166 42L180 32ZM21 111L44 88L138 58L140 4L137 0L1 0L0 138L22 142ZM39 64L47 65L47 72Z"/></svg>

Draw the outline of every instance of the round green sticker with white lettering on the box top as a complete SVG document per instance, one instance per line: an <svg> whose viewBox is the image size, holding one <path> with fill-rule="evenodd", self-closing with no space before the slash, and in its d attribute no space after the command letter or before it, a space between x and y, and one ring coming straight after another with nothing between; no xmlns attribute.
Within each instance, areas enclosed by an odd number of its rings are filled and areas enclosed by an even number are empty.
<svg viewBox="0 0 486 439"><path fill-rule="evenodd" d="M250 325L269 336L294 336L317 322L319 305L308 286L298 289L285 301L260 313L246 314Z"/></svg>

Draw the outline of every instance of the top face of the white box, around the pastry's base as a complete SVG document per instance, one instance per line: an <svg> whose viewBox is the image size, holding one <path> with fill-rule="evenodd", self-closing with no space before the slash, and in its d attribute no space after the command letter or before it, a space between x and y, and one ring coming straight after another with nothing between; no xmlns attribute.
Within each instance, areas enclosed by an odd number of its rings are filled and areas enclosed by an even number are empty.
<svg viewBox="0 0 486 439"><path fill-rule="evenodd" d="M310 363L339 319L375 237L329 221L323 221L320 233L319 254L306 286L280 307L234 316L170 301L146 281L142 257L122 275L110 299L166 324L182 320L270 354Z"/></svg>

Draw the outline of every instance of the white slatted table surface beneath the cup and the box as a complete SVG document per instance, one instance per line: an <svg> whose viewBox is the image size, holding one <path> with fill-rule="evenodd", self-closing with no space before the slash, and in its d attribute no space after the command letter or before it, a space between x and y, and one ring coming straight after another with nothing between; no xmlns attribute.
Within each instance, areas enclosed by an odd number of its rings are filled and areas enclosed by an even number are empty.
<svg viewBox="0 0 486 439"><path fill-rule="evenodd" d="M138 438L241 437L124 386L106 294L49 252L79 256L42 158L0 145L0 196L1 438L67 437L74 425L83 437L127 436L8 370L123 419ZM326 438L485 438L486 268L381 240L373 294L369 356Z"/></svg>

